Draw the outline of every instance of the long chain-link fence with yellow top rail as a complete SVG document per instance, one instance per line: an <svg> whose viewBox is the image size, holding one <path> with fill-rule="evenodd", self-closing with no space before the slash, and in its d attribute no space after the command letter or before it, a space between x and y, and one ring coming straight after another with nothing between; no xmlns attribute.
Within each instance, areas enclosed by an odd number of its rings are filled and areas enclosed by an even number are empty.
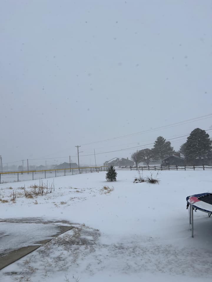
<svg viewBox="0 0 212 282"><path fill-rule="evenodd" d="M57 176L74 175L80 173L106 171L107 168L107 166L100 166L0 172L0 184L6 182L19 182Z"/></svg>

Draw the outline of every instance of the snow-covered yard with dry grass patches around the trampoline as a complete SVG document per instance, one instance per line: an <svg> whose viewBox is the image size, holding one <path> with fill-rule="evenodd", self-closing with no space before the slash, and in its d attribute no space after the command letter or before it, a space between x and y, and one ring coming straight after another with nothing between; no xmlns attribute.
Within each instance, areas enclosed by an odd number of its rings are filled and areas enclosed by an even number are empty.
<svg viewBox="0 0 212 282"><path fill-rule="evenodd" d="M186 196L211 192L211 171L160 172L159 185L133 183L137 176L118 171L117 182L106 182L105 172L57 177L54 192L34 198L18 187L39 180L0 184L0 199L9 200L0 201L1 220L29 217L75 226L2 269L0 280L211 281L212 218L194 213L191 238L186 210ZM106 193L105 185L114 190ZM17 189L15 202L10 186Z"/></svg>

